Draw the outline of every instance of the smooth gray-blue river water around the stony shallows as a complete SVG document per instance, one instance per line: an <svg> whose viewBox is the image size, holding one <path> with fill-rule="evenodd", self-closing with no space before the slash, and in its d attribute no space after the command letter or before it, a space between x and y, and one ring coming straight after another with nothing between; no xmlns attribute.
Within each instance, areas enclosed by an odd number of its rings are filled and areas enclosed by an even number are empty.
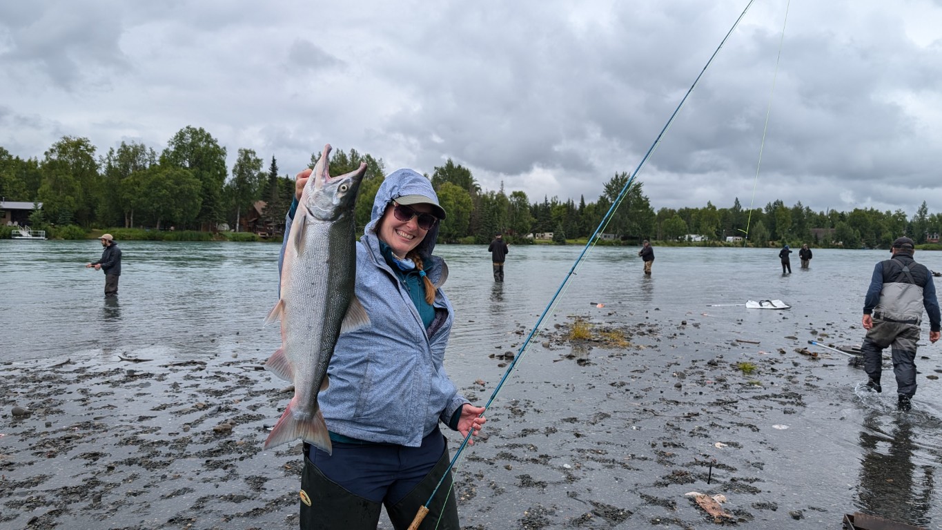
<svg viewBox="0 0 942 530"><path fill-rule="evenodd" d="M99 257L97 241L0 241L0 362L71 358L115 363L118 356L262 362L278 345L277 326L262 326L276 299L277 245L120 245L122 277L115 299L103 296L104 274L83 266ZM612 324L673 327L682 322L677 328L684 330L674 333L674 344L667 337L659 346L674 348L678 359L726 352L730 343L755 337L766 337L761 348L768 350L775 341L783 348L807 346L806 339L816 336L812 330L820 329L829 329L829 344L859 344L860 308L873 264L889 255L820 249L810 269L800 269L794 259L793 273L782 275L777 249L656 248L654 272L645 277L637 249L591 249L574 271L582 251L512 246L506 281L495 283L485 247L436 249L450 270L445 290L457 317L447 369L460 387L476 379L498 380L504 367L489 356L517 351L547 309L552 311L536 341L573 316ZM942 268L934 263L939 258L934 253L916 257L930 268ZM748 299L776 298L792 309L741 306ZM815 499L821 506L942 528L942 495L934 481L942 463L942 384L927 377L940 372L942 363L940 345L929 345L927 339L924 324L917 405L909 415L890 406L895 387L889 372L887 390L877 399L856 388L864 377L859 369L842 365L842 359L825 365L816 377L827 390L809 395L807 407L783 431L780 457L791 467L770 471L770 480L785 483L788 495ZM518 377L560 381L571 366L522 361ZM790 521L788 514L779 515ZM803 527L838 528L836 517L828 514L826 526Z"/></svg>

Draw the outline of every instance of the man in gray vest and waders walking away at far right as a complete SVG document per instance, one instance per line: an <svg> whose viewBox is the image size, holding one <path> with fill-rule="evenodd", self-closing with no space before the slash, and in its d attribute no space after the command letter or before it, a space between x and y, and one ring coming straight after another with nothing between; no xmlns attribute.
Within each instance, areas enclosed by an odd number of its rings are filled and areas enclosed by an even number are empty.
<svg viewBox="0 0 942 530"><path fill-rule="evenodd" d="M890 249L892 257L873 268L864 300L864 329L867 336L860 350L870 390L883 392L880 373L883 350L890 346L896 375L899 410L910 410L916 394L916 348L922 310L929 314L929 341L939 340L939 304L932 273L913 260L915 246L908 237L898 237Z"/></svg>

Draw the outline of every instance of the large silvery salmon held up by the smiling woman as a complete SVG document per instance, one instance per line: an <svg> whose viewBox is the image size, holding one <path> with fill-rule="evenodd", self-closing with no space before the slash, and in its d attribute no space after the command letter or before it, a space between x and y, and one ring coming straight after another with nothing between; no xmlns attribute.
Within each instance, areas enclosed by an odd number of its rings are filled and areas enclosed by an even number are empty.
<svg viewBox="0 0 942 530"><path fill-rule="evenodd" d="M327 367L341 332L369 324L353 294L356 237L353 205L366 164L331 178L328 156L304 185L284 246L281 298L266 322L281 320L282 346L265 367L293 381L294 397L268 434L265 448L301 439L332 452L317 393L327 388Z"/></svg>

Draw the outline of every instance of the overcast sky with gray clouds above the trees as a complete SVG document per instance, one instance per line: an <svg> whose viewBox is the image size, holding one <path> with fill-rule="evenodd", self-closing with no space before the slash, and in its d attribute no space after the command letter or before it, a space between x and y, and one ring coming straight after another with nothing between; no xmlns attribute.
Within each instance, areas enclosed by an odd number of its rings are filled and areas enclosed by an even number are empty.
<svg viewBox="0 0 942 530"><path fill-rule="evenodd" d="M0 147L160 153L188 125L230 171L330 143L530 202L637 170L655 210L912 217L942 211L939 27L942 0L3 2Z"/></svg>

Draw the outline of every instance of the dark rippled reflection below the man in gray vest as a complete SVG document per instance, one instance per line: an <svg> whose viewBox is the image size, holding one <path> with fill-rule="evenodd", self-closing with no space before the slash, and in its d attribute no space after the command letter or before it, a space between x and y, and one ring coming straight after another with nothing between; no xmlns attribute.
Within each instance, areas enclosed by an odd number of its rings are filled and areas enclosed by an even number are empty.
<svg viewBox="0 0 942 530"><path fill-rule="evenodd" d="M935 464L920 455L926 450L916 438L922 429L914 429L919 417L868 413L860 432L863 456L857 494L865 513L929 527ZM934 460L938 460L938 455Z"/></svg>

